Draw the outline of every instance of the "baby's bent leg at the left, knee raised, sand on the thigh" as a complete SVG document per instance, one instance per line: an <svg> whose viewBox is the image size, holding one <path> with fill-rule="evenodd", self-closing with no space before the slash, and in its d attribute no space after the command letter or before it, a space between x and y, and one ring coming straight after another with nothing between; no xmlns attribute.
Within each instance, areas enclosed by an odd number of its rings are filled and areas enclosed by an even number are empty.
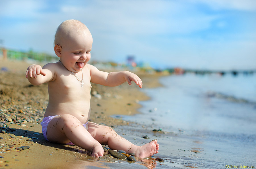
<svg viewBox="0 0 256 169"><path fill-rule="evenodd" d="M101 144L82 126L80 121L69 114L54 117L47 127L47 138L57 143L72 142L92 153L91 156L103 156Z"/></svg>

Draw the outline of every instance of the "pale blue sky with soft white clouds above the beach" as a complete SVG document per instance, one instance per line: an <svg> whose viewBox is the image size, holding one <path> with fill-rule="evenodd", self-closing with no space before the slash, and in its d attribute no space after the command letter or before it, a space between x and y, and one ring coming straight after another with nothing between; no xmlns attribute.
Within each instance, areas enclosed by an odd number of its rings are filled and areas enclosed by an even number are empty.
<svg viewBox="0 0 256 169"><path fill-rule="evenodd" d="M55 31L68 19L90 29L91 60L256 69L255 0L1 0L0 45L55 55Z"/></svg>

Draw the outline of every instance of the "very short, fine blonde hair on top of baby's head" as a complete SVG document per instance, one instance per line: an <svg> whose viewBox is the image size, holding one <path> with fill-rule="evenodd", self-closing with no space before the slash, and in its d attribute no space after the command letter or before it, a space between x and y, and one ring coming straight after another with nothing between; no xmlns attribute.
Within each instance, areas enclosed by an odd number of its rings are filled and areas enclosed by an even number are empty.
<svg viewBox="0 0 256 169"><path fill-rule="evenodd" d="M61 43L63 39L66 39L67 37L71 37L73 33L84 33L84 30L88 31L90 34L89 29L79 20L71 19L71 20L65 20L62 22L55 33L54 38L54 46L56 44Z"/></svg>

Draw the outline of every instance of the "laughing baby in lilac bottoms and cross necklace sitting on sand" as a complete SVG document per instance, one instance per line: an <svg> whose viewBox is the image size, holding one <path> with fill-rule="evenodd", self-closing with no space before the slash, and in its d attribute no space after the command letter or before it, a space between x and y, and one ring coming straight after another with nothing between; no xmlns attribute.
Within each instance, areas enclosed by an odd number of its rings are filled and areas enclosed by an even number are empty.
<svg viewBox="0 0 256 169"><path fill-rule="evenodd" d="M43 68L30 65L26 78L33 85L48 83L49 103L41 123L44 138L55 143L77 145L103 156L102 145L110 149L135 153L136 157L149 157L158 153L156 140L142 146L134 145L119 136L112 128L94 122L90 117L91 84L118 86L134 81L142 88L141 79L129 71L103 72L87 64L92 50L92 35L78 20L62 22L55 34L54 51L59 62Z"/></svg>

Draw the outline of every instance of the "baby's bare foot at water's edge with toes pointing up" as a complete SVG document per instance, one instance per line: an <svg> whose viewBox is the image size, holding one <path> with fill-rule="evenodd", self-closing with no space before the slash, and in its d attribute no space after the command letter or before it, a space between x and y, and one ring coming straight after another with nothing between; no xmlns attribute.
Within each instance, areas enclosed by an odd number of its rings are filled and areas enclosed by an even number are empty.
<svg viewBox="0 0 256 169"><path fill-rule="evenodd" d="M159 144L157 140L152 140L143 146L136 146L135 156L140 158L150 157L158 153Z"/></svg>

